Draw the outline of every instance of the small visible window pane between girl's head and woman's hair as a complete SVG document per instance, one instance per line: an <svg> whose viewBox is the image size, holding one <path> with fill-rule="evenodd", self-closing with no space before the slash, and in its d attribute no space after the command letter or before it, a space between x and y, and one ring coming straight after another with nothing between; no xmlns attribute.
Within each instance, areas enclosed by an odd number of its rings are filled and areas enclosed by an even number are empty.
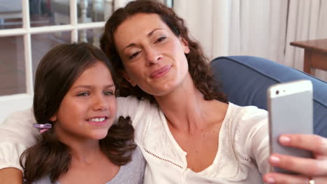
<svg viewBox="0 0 327 184"><path fill-rule="evenodd" d="M90 43L100 48L100 38L103 29L86 29L78 31L78 41Z"/></svg>

